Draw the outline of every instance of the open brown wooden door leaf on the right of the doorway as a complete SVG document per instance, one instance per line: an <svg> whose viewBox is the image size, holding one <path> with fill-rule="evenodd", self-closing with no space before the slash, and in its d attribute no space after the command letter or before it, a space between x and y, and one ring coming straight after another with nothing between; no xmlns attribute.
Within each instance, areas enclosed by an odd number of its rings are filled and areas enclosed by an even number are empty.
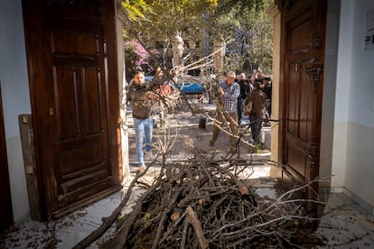
<svg viewBox="0 0 374 249"><path fill-rule="evenodd" d="M280 159L284 190L318 177L326 1L282 1ZM298 198L316 198L318 184ZM316 214L316 206L306 208Z"/></svg>

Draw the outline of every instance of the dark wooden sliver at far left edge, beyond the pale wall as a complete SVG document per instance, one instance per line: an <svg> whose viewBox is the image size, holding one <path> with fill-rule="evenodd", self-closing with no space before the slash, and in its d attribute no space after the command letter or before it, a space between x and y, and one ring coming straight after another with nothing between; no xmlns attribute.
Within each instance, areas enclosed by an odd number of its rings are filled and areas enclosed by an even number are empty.
<svg viewBox="0 0 374 249"><path fill-rule="evenodd" d="M6 156L3 101L0 85L0 234L13 224L12 197Z"/></svg>

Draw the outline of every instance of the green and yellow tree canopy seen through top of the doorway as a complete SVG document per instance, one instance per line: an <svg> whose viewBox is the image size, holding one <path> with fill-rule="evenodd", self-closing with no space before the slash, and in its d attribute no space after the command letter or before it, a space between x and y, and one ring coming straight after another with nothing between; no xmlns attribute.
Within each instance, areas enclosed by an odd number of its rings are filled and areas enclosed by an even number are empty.
<svg viewBox="0 0 374 249"><path fill-rule="evenodd" d="M137 40L158 58L165 59L176 33L181 34L185 47L192 53L211 52L213 42L223 37L228 42L225 69L251 73L251 69L260 67L271 73L273 24L266 7L272 0L126 0L122 3L129 15L126 40ZM198 48L199 44L203 48ZM154 57L151 61L157 63Z"/></svg>

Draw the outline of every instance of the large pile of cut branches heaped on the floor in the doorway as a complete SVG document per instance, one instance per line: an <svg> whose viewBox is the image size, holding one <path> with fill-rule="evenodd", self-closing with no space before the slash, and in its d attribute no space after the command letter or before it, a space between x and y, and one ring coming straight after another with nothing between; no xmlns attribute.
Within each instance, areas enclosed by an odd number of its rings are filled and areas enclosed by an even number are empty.
<svg viewBox="0 0 374 249"><path fill-rule="evenodd" d="M149 167L148 167L149 168ZM257 196L240 175L251 171L199 157L164 165L133 211L117 219L117 234L103 248L269 248L297 247L309 218L304 205ZM306 188L306 187L303 187ZM289 204L294 203L292 208ZM299 239L297 239L299 238ZM303 238L304 239L304 238Z"/></svg>

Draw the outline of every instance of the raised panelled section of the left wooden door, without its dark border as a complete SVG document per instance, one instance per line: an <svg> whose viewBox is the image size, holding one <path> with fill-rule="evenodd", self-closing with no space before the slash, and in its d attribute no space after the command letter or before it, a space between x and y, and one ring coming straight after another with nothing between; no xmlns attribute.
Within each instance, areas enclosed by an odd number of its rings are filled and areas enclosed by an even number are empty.
<svg viewBox="0 0 374 249"><path fill-rule="evenodd" d="M53 17L55 18L55 17ZM108 167L106 46L100 26L46 30L57 118L55 177L59 208L89 198L112 182Z"/></svg>

